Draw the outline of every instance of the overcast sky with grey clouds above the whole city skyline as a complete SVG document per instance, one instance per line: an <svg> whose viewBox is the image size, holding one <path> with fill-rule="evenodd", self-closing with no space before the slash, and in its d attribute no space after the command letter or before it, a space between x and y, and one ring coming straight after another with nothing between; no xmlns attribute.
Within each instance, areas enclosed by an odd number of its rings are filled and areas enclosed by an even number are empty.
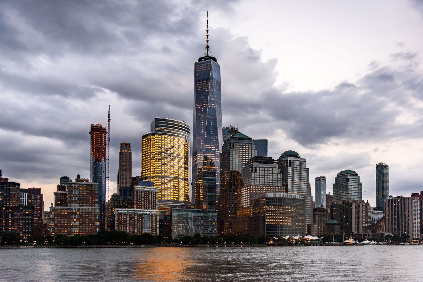
<svg viewBox="0 0 423 282"><path fill-rule="evenodd" d="M194 62L221 66L223 125L294 150L314 177L353 169L375 205L423 191L421 1L1 1L0 169L41 187L90 177L90 124L107 126L110 193L121 142L140 175L141 135L158 117L192 124Z"/></svg>

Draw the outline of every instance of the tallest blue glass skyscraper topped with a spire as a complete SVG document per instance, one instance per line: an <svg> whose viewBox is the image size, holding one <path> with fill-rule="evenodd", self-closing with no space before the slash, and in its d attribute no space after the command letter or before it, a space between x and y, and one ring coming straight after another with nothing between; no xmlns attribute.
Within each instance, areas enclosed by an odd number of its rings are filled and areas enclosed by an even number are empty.
<svg viewBox="0 0 423 282"><path fill-rule="evenodd" d="M220 65L209 50L209 20L207 19L206 50L194 65L194 122L192 135L192 199L202 177L207 175L206 189L220 194L220 152L222 149L222 100ZM213 177L213 175L215 177ZM213 180L215 178L215 180ZM215 184L213 184L213 182ZM207 192L207 194L211 191ZM199 194L204 194L199 191ZM197 206L197 204L195 204Z"/></svg>

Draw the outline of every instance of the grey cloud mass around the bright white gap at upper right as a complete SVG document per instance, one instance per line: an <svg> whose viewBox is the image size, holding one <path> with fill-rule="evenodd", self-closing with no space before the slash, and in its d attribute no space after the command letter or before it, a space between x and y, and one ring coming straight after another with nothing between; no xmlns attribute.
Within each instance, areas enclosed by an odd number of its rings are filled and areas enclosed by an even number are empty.
<svg viewBox="0 0 423 282"><path fill-rule="evenodd" d="M139 174L140 137L155 116L192 123L193 64L204 50L204 11L230 17L233 7L232 1L3 1L0 169L5 177L46 185L62 175L88 177L89 127L106 125L108 105L111 180L116 180L120 142L132 143L133 170ZM422 137L422 116L410 101L423 99L419 54L398 52L392 64L375 61L357 80L341 81L334 89L289 92L288 83L275 85L276 58L264 61L247 37L210 24L211 52L221 64L224 125L239 126L252 138L280 131L311 149ZM399 123L404 112L415 113L415 121ZM282 147L279 140L269 144L271 151ZM370 167L366 152L342 152L326 161L306 157L321 174L324 167ZM52 191L44 195L51 199Z"/></svg>

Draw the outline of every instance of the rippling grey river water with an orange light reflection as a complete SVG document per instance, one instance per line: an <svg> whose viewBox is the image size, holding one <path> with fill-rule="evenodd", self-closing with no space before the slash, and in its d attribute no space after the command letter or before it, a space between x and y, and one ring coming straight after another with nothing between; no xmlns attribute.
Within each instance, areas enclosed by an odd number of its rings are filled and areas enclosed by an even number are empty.
<svg viewBox="0 0 423 282"><path fill-rule="evenodd" d="M0 249L1 282L422 281L423 246Z"/></svg>

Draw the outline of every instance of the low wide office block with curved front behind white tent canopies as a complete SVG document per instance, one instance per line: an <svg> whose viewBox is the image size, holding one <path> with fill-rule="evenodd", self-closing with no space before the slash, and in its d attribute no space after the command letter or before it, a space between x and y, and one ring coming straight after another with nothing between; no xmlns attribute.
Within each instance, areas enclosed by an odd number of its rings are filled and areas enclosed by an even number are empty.
<svg viewBox="0 0 423 282"><path fill-rule="evenodd" d="M254 196L250 237L304 235L304 199L299 194L262 193Z"/></svg>

